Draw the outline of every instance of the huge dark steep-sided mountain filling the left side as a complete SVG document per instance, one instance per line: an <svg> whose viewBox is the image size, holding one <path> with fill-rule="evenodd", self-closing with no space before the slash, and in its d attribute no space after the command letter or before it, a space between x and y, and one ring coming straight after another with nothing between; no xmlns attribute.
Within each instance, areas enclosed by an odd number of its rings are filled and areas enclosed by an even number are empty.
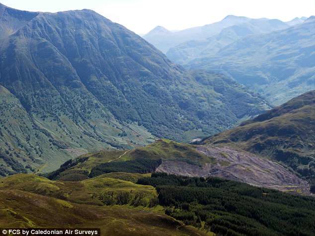
<svg viewBox="0 0 315 236"><path fill-rule="evenodd" d="M0 12L0 175L52 171L156 137L189 141L269 108L225 76L173 64L94 11Z"/></svg>

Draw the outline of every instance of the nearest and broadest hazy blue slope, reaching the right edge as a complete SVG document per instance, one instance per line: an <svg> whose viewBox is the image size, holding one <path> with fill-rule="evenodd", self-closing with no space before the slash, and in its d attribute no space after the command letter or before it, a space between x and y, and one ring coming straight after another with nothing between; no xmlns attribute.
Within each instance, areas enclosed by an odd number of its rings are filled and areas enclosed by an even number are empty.
<svg viewBox="0 0 315 236"><path fill-rule="evenodd" d="M280 105L315 88L315 17L269 34L248 36L189 68L226 73Z"/></svg>

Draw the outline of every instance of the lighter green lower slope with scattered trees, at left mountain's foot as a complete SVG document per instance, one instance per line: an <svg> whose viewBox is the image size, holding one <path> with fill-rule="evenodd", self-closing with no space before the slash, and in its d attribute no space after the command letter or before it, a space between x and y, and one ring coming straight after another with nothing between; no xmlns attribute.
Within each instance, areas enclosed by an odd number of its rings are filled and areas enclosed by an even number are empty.
<svg viewBox="0 0 315 236"><path fill-rule="evenodd" d="M79 111L72 115L84 114ZM52 171L82 153L130 148L153 141L143 127L121 123L101 109L87 111L90 117L77 119L69 118L58 108L56 115L30 113L0 86L0 176L38 169Z"/></svg>

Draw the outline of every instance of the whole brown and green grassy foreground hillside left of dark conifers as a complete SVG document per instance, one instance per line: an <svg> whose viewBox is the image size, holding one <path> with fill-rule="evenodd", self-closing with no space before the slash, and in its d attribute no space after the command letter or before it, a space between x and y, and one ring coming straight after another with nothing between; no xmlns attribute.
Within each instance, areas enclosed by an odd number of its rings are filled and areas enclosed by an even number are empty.
<svg viewBox="0 0 315 236"><path fill-rule="evenodd" d="M70 183L34 175L14 175L0 179L0 227L100 228L102 235L113 236L206 235L164 215L160 207L104 204L102 196L97 194L109 189L114 195L115 192L132 192L136 200L146 201L147 196L157 195L152 186L113 178ZM143 197L139 193L143 193Z"/></svg>

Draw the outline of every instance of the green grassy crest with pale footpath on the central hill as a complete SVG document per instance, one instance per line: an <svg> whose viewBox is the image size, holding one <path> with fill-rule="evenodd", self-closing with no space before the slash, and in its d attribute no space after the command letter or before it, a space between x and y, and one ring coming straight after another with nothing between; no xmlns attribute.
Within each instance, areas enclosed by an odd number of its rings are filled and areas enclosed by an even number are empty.
<svg viewBox="0 0 315 236"><path fill-rule="evenodd" d="M195 149L194 145L178 143L168 139L159 139L153 144L146 147L139 147L130 150L125 155L125 151L100 151L90 154L85 154L79 158L88 158L84 162L71 167L59 174L57 179L59 180L83 180L87 179L88 175L93 167L114 160L113 162L124 162L135 159L162 159L186 162L195 166L203 166L206 163L215 164L217 161L215 158L208 157ZM112 163L113 163L112 162ZM131 177L131 174L128 174ZM117 175L115 175L117 177ZM119 176L119 175L118 175ZM126 177L126 175L124 175ZM135 176L132 177L134 180ZM129 180L128 178L126 180Z"/></svg>

